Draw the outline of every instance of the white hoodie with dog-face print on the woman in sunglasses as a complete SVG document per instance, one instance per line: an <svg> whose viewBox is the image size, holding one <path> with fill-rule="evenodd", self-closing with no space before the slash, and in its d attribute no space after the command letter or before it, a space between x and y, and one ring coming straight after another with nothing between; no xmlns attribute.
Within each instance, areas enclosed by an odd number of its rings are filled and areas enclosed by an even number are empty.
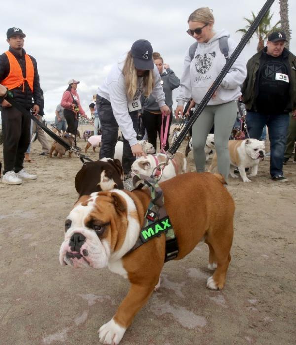
<svg viewBox="0 0 296 345"><path fill-rule="evenodd" d="M229 38L230 35L226 30L216 32L207 43L198 43L192 61L189 56L189 49L186 52L180 93L176 98L178 106L183 106L191 97L199 104L218 77L226 64L225 56L219 48L219 38L224 36L228 37L229 56L231 56L236 48L236 43ZM241 95L240 85L246 76L246 61L240 54L217 89L216 98L211 98L208 105L237 100Z"/></svg>

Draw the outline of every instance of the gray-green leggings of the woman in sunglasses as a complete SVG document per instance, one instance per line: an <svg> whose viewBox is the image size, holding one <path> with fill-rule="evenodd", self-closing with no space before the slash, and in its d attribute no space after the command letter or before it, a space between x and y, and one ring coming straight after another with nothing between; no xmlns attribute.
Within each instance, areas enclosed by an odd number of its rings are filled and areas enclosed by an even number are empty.
<svg viewBox="0 0 296 345"><path fill-rule="evenodd" d="M217 152L218 171L228 178L230 159L228 140L237 116L237 101L216 106L206 106L192 126L192 146L197 172L205 171L205 144L214 124L215 149Z"/></svg>

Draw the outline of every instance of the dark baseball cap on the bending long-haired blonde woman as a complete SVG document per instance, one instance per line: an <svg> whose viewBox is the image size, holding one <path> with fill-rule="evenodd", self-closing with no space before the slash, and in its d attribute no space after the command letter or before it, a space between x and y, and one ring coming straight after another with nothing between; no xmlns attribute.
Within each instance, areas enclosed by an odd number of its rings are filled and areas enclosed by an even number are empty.
<svg viewBox="0 0 296 345"><path fill-rule="evenodd" d="M145 39L138 39L131 47L131 54L138 70L153 70L153 48L150 42Z"/></svg>

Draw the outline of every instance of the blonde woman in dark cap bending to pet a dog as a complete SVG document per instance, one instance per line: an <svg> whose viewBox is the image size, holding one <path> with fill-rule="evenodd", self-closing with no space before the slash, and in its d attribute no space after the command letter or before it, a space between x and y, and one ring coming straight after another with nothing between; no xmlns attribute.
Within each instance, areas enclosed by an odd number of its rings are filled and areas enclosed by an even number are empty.
<svg viewBox="0 0 296 345"><path fill-rule="evenodd" d="M147 40L134 42L97 90L102 129L100 159L114 157L119 127L124 137L122 165L125 174L130 172L135 157L145 155L136 134L138 112L142 109L141 96L153 95L161 112L170 114L152 53L151 43Z"/></svg>

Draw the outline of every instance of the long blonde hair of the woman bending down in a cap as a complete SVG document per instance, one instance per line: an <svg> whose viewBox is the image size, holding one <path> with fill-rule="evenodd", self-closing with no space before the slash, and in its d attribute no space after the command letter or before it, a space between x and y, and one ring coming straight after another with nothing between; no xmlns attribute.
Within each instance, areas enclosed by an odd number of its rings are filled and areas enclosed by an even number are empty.
<svg viewBox="0 0 296 345"><path fill-rule="evenodd" d="M129 51L122 69L125 78L126 95L129 100L133 100L138 88L137 70L134 65L134 58ZM143 75L143 94L149 97L154 87L153 70L145 71Z"/></svg>

